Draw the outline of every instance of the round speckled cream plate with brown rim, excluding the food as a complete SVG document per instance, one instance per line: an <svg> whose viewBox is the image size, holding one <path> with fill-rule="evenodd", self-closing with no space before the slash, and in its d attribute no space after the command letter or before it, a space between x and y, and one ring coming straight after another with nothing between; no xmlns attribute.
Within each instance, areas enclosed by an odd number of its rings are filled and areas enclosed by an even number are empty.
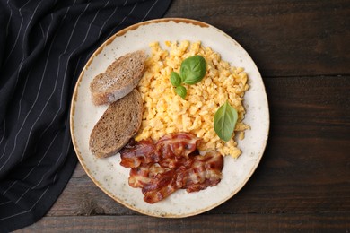
<svg viewBox="0 0 350 233"><path fill-rule="evenodd" d="M93 125L100 119L106 106L92 104L89 85L92 78L106 70L116 58L137 49L150 52L153 41L201 40L205 47L212 47L222 59L234 66L244 67L249 76L249 91L245 94L244 122L251 129L245 139L238 142L241 156L234 160L224 157L223 179L214 187L188 194L178 190L159 203L145 203L140 188L128 186L129 168L119 165L120 156L97 159L89 151L89 136ZM230 36L205 22L169 18L141 22L105 41L99 47L80 74L71 105L71 135L76 155L92 181L118 203L155 217L181 218L208 211L232 198L258 167L267 144L269 112L267 94L257 66L249 54Z"/></svg>

